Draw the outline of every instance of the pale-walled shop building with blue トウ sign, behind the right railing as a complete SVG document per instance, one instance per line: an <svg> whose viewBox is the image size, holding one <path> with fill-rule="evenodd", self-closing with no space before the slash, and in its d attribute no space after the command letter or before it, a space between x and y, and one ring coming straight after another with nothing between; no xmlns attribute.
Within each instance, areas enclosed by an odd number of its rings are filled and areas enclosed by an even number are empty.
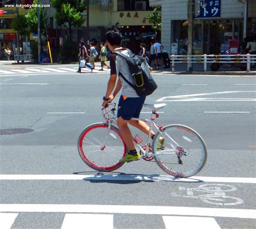
<svg viewBox="0 0 256 229"><path fill-rule="evenodd" d="M256 34L256 1L248 1L247 34ZM244 38L244 0L194 1L193 54L218 54L229 39ZM178 43L178 54L187 53L188 0L150 0L161 6L161 42L171 52Z"/></svg>

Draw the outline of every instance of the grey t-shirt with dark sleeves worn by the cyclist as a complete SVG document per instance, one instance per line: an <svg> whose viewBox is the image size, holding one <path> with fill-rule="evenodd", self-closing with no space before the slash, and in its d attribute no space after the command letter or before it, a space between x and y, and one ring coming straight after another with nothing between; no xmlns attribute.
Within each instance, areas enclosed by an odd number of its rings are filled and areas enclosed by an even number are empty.
<svg viewBox="0 0 256 229"><path fill-rule="evenodd" d="M118 50L121 51L123 54L129 56L129 52L127 50L124 50L124 49L120 50L117 48L115 51L118 51ZM110 60L110 67L111 67L110 74L119 75L119 73L121 72L124 75L125 79L127 79L129 82L131 82L131 84L133 84L132 74L130 72L128 64L126 63L126 60L120 55L116 55L116 54L112 54L111 58L114 58L116 60L115 61ZM130 98L139 97L136 91L121 76L119 77L123 86L122 95Z"/></svg>

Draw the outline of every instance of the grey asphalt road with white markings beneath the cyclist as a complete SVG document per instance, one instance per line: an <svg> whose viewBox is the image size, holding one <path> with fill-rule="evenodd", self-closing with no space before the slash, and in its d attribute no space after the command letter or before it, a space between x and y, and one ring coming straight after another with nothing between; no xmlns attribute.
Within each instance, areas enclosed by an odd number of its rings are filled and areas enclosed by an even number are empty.
<svg viewBox="0 0 256 229"><path fill-rule="evenodd" d="M19 67L0 66L6 228L255 228L255 77L153 74L146 102L167 103L157 123L190 126L208 148L196 177L173 179L143 160L99 174L80 159L79 133L103 121L108 71ZM13 128L31 132L7 135Z"/></svg>

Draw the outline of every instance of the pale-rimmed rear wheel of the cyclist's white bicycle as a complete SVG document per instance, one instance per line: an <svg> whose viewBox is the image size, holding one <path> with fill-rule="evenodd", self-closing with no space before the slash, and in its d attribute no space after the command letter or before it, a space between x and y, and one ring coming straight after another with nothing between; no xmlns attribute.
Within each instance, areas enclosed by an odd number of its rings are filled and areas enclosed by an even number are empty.
<svg viewBox="0 0 256 229"><path fill-rule="evenodd" d="M163 129L163 145L159 145L160 133L156 134L152 145L156 163L167 174L175 177L196 175L204 167L207 159L203 138L193 129L179 124Z"/></svg>

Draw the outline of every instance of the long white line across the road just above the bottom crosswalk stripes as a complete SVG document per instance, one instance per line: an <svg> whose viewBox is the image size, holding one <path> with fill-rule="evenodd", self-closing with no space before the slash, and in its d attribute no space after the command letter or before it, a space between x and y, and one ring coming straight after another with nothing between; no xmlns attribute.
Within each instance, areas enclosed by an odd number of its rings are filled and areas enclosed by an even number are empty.
<svg viewBox="0 0 256 229"><path fill-rule="evenodd" d="M0 212L160 214L256 219L256 210L251 209L143 205L0 204Z"/></svg>

